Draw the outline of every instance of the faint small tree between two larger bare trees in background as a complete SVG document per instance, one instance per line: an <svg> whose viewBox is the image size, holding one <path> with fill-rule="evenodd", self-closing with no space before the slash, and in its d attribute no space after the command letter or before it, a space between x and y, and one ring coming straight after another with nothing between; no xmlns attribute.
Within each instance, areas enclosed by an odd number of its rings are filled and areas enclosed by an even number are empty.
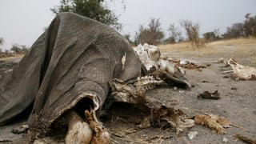
<svg viewBox="0 0 256 144"><path fill-rule="evenodd" d="M175 43L182 41L182 31L178 29L178 27L174 26L174 24L170 24L168 31L170 36L166 39L167 43Z"/></svg>

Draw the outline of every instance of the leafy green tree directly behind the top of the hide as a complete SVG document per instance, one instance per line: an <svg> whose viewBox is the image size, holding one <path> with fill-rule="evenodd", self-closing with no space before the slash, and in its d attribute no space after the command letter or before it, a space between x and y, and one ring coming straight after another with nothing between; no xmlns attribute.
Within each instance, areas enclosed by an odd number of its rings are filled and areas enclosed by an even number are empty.
<svg viewBox="0 0 256 144"><path fill-rule="evenodd" d="M74 12L122 30L118 17L104 5L106 0L61 0L60 6L50 9L54 14Z"/></svg>

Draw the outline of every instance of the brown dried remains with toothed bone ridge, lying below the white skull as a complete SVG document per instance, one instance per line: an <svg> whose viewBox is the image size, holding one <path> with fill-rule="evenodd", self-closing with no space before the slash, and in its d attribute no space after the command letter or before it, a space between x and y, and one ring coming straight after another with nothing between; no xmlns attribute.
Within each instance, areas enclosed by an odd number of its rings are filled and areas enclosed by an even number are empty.
<svg viewBox="0 0 256 144"><path fill-rule="evenodd" d="M140 82L145 79L150 81ZM160 122L161 120L164 120L176 128L178 134L183 128L193 126L194 122L182 122L180 120L180 116L183 114L182 110L176 110L174 107L166 106L157 99L145 96L146 89L142 88L143 85L157 85L160 82L161 81L157 81L153 77L145 77L138 78L137 84L126 85L126 83L119 79L113 79L110 81L110 86L112 88L110 98L113 98L114 102L140 104L142 107L146 107L147 110L150 110L150 114L143 118L141 124L138 125L138 128L146 128L152 125L151 122Z"/></svg>

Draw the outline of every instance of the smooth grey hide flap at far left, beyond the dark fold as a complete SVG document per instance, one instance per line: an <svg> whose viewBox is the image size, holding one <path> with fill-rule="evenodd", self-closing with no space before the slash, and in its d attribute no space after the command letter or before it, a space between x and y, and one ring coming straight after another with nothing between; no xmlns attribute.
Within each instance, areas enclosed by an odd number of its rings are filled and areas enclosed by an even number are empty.
<svg viewBox="0 0 256 144"><path fill-rule="evenodd" d="M33 102L43 71L46 33L42 34L18 65L0 76L0 125L13 120Z"/></svg>

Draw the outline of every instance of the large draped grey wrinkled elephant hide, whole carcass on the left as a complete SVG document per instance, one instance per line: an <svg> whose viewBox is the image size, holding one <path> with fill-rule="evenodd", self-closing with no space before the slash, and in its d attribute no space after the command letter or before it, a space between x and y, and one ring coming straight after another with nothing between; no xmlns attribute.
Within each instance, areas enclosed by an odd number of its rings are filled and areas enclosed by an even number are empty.
<svg viewBox="0 0 256 144"><path fill-rule="evenodd" d="M109 139L96 114L108 96L108 82L132 82L141 70L134 50L116 30L78 14L58 14L29 54L0 79L0 124L33 104L28 119L32 139L62 115L69 129L85 118L83 126L93 130L92 141Z"/></svg>

